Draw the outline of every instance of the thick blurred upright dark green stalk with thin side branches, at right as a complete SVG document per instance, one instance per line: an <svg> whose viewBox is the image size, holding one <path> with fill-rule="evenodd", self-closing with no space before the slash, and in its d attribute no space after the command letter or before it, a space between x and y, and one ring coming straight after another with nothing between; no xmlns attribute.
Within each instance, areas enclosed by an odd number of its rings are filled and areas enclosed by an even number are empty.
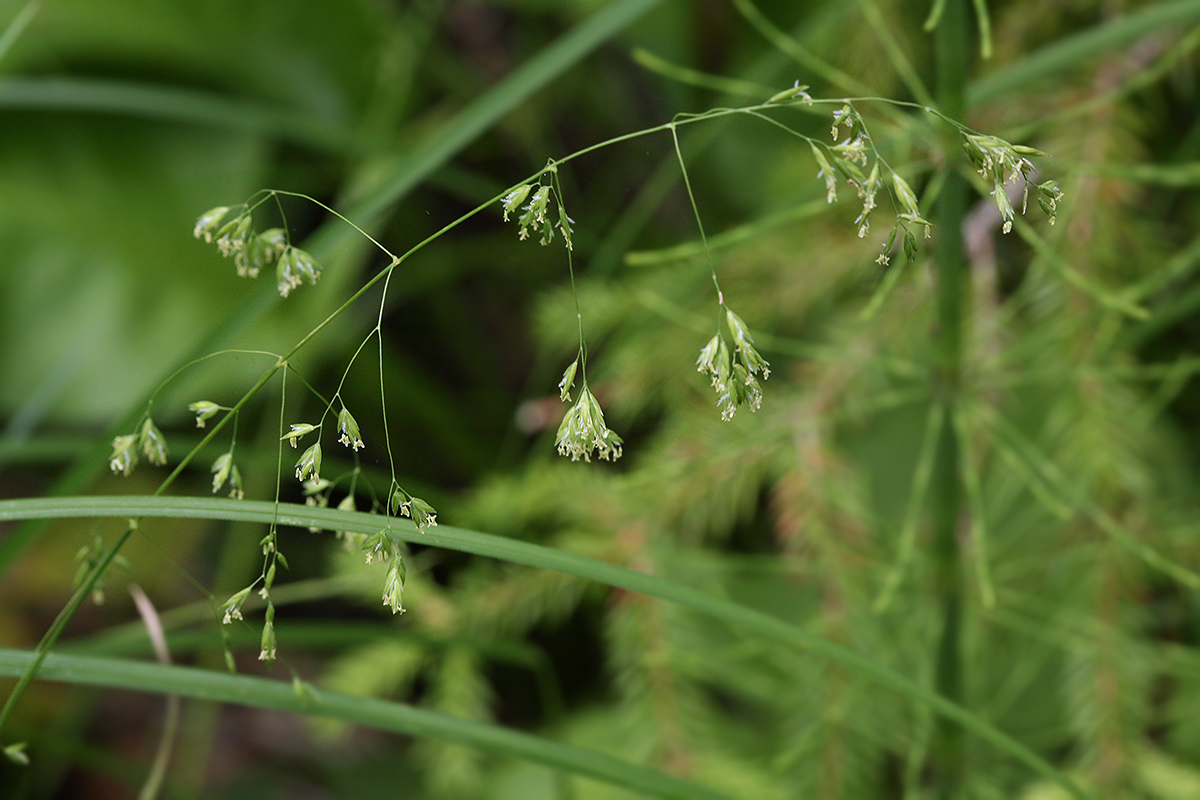
<svg viewBox="0 0 1200 800"><path fill-rule="evenodd" d="M967 44L971 30L967 0L949 0L937 28L937 103L950 119L966 116L966 82L970 70ZM956 140L948 140L943 151L959 152ZM959 553L958 518L962 506L955 407L961 391L962 330L967 309L966 257L962 249L962 217L966 213L966 181L956 169L956 158L947 164L946 182L938 197L938 230L935 269L937 271L937 329L932 385L934 402L941 407L941 440L934 463L931 524L934 530L934 591L942 609L942 631L937 643L934 688L955 705L962 705L962 559ZM946 800L962 796L966 775L964 730L958 723L938 716L930 750L936 796Z"/></svg>

